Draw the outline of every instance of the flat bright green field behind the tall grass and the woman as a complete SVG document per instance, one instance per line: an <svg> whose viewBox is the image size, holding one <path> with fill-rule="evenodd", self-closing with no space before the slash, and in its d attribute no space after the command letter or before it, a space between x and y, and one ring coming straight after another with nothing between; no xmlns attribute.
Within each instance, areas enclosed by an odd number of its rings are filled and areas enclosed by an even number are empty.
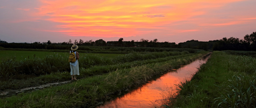
<svg viewBox="0 0 256 108"><path fill-rule="evenodd" d="M24 60L24 59L33 59L35 57L38 58L43 58L46 57L47 55L54 55L54 54L59 54L62 56L67 56L68 58L68 52L50 52L50 51L14 51L14 50L1 50L0 51L0 61L4 61L7 59L16 59L16 60ZM95 53L79 53L81 57L85 55L96 55ZM124 54L97 54L98 56L103 56L103 57L109 57L109 58L114 58L117 57L118 55L124 55Z"/></svg>

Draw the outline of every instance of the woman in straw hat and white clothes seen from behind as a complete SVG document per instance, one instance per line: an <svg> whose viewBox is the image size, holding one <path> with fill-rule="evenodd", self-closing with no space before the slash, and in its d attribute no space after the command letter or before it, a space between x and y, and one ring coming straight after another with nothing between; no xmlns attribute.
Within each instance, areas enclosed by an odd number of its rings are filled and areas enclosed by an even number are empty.
<svg viewBox="0 0 256 108"><path fill-rule="evenodd" d="M76 51L78 49L78 46L73 44L71 47L72 52L75 53L75 62L70 62L70 75L71 80L76 80L76 75L79 75L79 65L78 65L78 59L79 59L79 53ZM70 51L71 53L71 51ZM73 77L74 76L74 77Z"/></svg>

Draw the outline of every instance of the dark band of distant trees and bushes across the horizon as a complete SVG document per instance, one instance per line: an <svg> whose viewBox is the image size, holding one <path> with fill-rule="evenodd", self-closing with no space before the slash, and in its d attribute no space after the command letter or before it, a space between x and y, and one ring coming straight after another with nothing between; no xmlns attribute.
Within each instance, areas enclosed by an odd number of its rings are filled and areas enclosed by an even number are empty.
<svg viewBox="0 0 256 108"><path fill-rule="evenodd" d="M170 43L170 42L158 42L158 39L147 40L140 39L140 41L123 41L123 38L120 38L118 41L104 41L103 39L83 41L82 39L75 40L72 43L70 39L68 42L63 43L51 43L48 42L34 42L31 44L28 43L7 43L0 42L0 47L4 48L20 48L20 49L69 49L72 44L79 46L108 46L106 48L108 51L130 51L131 49L119 50L116 47L157 47L157 48L192 48L192 49L204 49L204 50L245 50L245 51L256 51L256 32L253 32L250 35L245 35L244 39L238 39L234 37L226 38L220 40L210 40L208 42L202 42L198 40L188 40L183 43ZM112 47L110 47L112 46ZM113 47L114 46L114 47ZM80 47L79 47L80 48ZM97 48L97 49L95 49ZM99 47L83 47L81 50L87 51L99 51ZM134 50L131 50L134 51ZM140 52L140 51L136 51ZM152 52L152 51L150 51Z"/></svg>

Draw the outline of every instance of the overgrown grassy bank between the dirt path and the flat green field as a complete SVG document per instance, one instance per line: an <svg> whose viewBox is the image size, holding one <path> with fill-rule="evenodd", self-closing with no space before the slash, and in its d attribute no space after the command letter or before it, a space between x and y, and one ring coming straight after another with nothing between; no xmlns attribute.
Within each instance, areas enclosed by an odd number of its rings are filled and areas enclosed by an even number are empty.
<svg viewBox="0 0 256 108"><path fill-rule="evenodd" d="M115 58L81 54L81 58L79 59L81 75L78 78L101 75L116 69L131 68L132 66L154 62L163 62L168 59L188 55L192 54L189 54L187 51L153 52L147 54L130 53L119 55ZM61 54L53 54L51 56L47 55L44 58L25 59L21 61L9 59L3 61L3 64L0 65L0 77L2 80L0 89L18 89L29 86L38 86L49 82L69 80L70 67L66 58L66 56ZM39 75L39 77L35 77L36 75Z"/></svg>

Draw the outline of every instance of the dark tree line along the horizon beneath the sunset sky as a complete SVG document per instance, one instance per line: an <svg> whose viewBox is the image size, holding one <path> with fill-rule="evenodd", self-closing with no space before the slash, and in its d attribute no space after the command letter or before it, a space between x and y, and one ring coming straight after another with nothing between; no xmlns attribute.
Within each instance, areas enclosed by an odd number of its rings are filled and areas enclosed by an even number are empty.
<svg viewBox="0 0 256 108"><path fill-rule="evenodd" d="M5 43L5 44L4 44ZM3 45L4 44L4 45ZM27 43L24 43L27 44ZM244 51L256 51L256 32L251 33L250 35L245 35L244 39L238 39L234 37L222 38L220 40L210 40L208 42L198 41L198 40L188 40L183 43L175 44L170 42L158 42L158 39L147 40L140 39L140 41L124 41L123 38L120 38L118 41L104 41L99 39L96 41L92 40L75 40L72 42L70 39L68 42L62 43L52 43L50 40L47 42L34 42L33 46L36 45L83 45L83 46L117 46L117 47L159 47L159 48L192 48L192 49L204 49L204 50L244 50ZM0 46L7 47L8 43L6 41L1 41ZM29 45L23 45L28 46ZM13 45L15 47L15 45ZM43 46L42 49L46 49ZM49 47L49 46L48 46Z"/></svg>

